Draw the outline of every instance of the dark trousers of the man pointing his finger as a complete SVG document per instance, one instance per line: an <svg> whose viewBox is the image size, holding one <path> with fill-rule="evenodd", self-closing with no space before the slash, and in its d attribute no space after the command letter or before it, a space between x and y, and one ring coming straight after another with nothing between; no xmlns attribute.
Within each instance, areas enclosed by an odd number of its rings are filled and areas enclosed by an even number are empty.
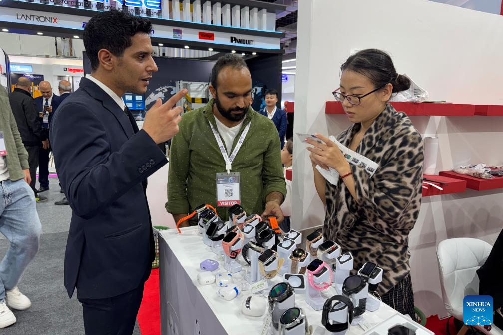
<svg viewBox="0 0 503 335"><path fill-rule="evenodd" d="M86 335L131 335L143 297L143 286L111 298L82 299Z"/></svg>

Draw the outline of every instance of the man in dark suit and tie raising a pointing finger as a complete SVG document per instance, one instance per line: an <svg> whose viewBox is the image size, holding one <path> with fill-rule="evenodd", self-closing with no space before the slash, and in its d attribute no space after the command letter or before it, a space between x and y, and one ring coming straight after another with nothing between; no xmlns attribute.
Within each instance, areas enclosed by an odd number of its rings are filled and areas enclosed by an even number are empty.
<svg viewBox="0 0 503 335"><path fill-rule="evenodd" d="M131 334L154 259L146 180L166 164L157 146L178 132L183 89L148 110L138 130L121 96L145 93L157 66L150 21L112 10L89 20L92 72L54 114L56 169L72 217L64 284L75 287L86 334Z"/></svg>

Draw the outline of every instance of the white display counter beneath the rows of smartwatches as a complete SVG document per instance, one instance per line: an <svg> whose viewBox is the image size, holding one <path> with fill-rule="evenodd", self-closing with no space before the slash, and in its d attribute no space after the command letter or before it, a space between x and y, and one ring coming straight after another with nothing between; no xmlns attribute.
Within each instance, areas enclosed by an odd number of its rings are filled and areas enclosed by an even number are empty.
<svg viewBox="0 0 503 335"><path fill-rule="evenodd" d="M200 285L197 274L203 272L199 264L205 259L223 262L222 256L211 252L210 247L202 242L196 227L159 232L159 265L160 265L160 304L162 334L261 334L267 314L251 317L241 313L241 303L250 291L240 291L233 300L226 301L217 295L215 284ZM240 263L245 264L241 257ZM243 266L243 269L247 267ZM214 273L225 272L219 266ZM241 273L233 274L234 283L244 281ZM282 276L273 279L281 282ZM240 288L240 284L236 285ZM335 289L333 294L337 294ZM269 289L267 290L267 294ZM332 294L330 294L332 295ZM313 325L313 334L328 334L321 326L321 310L315 311L304 300L304 294L296 293L295 305L301 307L307 315L309 324ZM397 312L390 306L380 303L375 312L366 311L364 319L371 326L376 326ZM352 325L349 334L363 334L360 325ZM272 333L272 332L267 332Z"/></svg>

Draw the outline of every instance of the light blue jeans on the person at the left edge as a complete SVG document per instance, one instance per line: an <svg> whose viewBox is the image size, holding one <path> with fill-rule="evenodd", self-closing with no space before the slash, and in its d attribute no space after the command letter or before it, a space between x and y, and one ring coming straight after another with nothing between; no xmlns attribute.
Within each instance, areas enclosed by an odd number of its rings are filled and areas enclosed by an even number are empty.
<svg viewBox="0 0 503 335"><path fill-rule="evenodd" d="M0 182L0 232L11 242L0 263L0 300L18 285L23 272L38 252L42 225L35 197L23 180Z"/></svg>

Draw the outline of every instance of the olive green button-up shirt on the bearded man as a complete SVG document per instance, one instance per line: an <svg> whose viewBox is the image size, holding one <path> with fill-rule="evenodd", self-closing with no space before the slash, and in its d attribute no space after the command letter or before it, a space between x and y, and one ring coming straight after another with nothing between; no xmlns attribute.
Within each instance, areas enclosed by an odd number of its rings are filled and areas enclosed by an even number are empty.
<svg viewBox="0 0 503 335"><path fill-rule="evenodd" d="M172 214L188 213L206 203L217 209L222 220L228 219L227 207L216 207L215 174L226 170L224 158L208 123L211 122L216 128L212 106L213 99L206 106L186 113L179 124L178 134L173 137L166 202L166 210ZM232 149L248 122L251 122L250 128L232 161L231 172L240 173L243 209L248 215L260 215L264 211L267 195L277 191L285 196L286 183L278 130L269 118L248 108Z"/></svg>

